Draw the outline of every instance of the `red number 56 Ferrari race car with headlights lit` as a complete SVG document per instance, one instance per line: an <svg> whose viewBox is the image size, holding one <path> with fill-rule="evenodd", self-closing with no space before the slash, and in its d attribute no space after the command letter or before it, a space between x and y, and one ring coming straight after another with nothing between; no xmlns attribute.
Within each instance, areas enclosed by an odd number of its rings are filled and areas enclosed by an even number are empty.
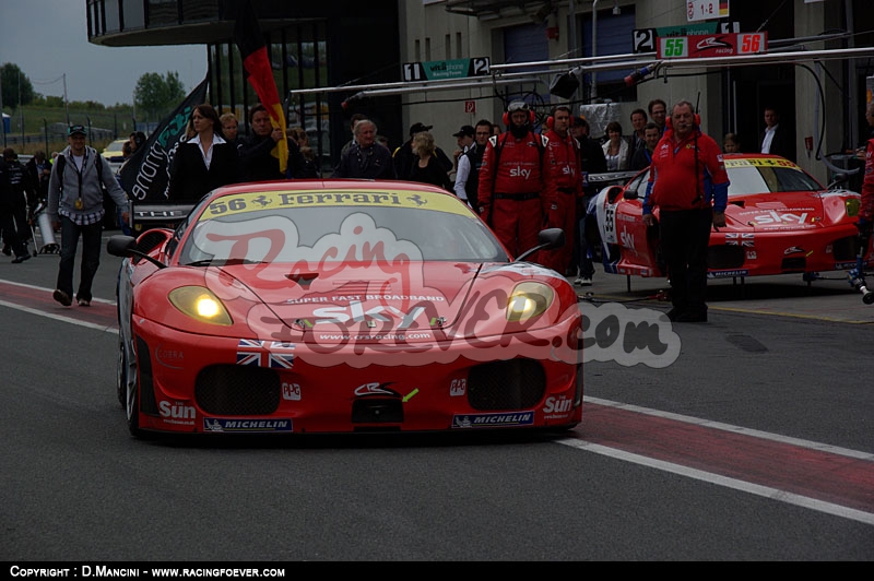
<svg viewBox="0 0 874 581"><path fill-rule="evenodd" d="M556 248L560 229L540 235ZM402 181L235 185L113 236L118 396L165 432L568 429L581 312L454 195ZM535 250L532 249L532 250Z"/></svg>

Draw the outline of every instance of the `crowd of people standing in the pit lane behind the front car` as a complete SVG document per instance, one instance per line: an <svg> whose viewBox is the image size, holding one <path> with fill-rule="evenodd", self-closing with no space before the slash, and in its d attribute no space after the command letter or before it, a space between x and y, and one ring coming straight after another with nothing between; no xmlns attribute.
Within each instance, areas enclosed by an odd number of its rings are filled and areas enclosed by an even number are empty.
<svg viewBox="0 0 874 581"><path fill-rule="evenodd" d="M698 116L686 100L669 110L664 100L653 99L647 109L634 109L629 121L630 134L624 134L622 123L614 120L599 141L589 134L584 117L574 115L567 106L557 106L538 132L534 111L527 103L516 100L507 107L501 124L481 119L475 126L462 126L452 134L457 147L450 156L435 143L433 126L413 123L409 140L392 151L376 122L356 114L350 122L352 139L343 146L331 177L400 179L442 188L468 203L513 256L535 246L544 227L560 228L565 245L541 251L534 260L576 276L577 285L589 286L594 265L586 216L593 211L590 206L598 188L588 176L649 167L643 222L659 228L672 287L669 318L706 321L708 233L711 226L724 225L728 192L722 153L741 152L741 140L727 133L720 147L701 131ZM757 150L794 159L794 144L780 127L779 111L766 107L764 121ZM168 198L190 202L227 183L322 175L303 128L277 127L260 104L249 111L248 122L251 134L241 135L233 112L220 116L210 104L196 106L173 156ZM73 298L81 306L92 300L104 192L117 204L122 227L128 222L127 194L108 163L85 145L86 133L82 126L70 127L68 147L52 159L40 151L24 166L11 149L0 159L3 253L14 253L13 263L29 258L33 208L37 200L45 200L52 225L61 232L55 298L64 306ZM125 156L132 155L145 140L142 132L132 132L125 144ZM279 163L280 152L287 156L285 164ZM658 223L654 208L660 209ZM79 238L83 254L74 294Z"/></svg>

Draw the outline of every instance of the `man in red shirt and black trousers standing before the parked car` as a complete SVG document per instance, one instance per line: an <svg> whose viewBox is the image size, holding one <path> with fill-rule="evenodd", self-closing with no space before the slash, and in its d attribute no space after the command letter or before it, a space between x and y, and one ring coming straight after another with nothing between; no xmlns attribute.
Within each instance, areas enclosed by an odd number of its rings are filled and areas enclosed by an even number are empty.
<svg viewBox="0 0 874 581"><path fill-rule="evenodd" d="M673 308L668 318L706 322L707 249L710 225L725 225L729 176L722 152L701 132L692 103L671 110L662 139L652 152L643 223L653 226L659 206L659 239L671 280Z"/></svg>

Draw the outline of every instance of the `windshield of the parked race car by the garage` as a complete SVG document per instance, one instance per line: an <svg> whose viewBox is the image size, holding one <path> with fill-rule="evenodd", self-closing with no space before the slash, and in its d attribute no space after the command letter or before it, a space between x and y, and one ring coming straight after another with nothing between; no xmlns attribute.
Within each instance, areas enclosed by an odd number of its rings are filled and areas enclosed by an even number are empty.
<svg viewBox="0 0 874 581"><path fill-rule="evenodd" d="M822 191L825 188L799 166L786 159L725 159L729 197L783 191Z"/></svg>

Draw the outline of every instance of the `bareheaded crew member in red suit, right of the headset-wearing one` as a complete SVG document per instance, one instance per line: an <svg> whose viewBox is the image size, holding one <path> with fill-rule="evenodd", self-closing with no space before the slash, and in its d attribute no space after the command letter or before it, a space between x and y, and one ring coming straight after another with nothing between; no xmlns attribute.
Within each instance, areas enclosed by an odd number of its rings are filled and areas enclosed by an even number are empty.
<svg viewBox="0 0 874 581"><path fill-rule="evenodd" d="M577 212L577 198L582 197L582 179L580 178L580 144L569 133L570 108L559 105L553 109L546 120L550 140L547 147L553 157L553 179L557 195L555 202L546 209L546 225L565 230L565 246L555 250L540 252L539 262L565 274L570 268L574 252L574 221Z"/></svg>

